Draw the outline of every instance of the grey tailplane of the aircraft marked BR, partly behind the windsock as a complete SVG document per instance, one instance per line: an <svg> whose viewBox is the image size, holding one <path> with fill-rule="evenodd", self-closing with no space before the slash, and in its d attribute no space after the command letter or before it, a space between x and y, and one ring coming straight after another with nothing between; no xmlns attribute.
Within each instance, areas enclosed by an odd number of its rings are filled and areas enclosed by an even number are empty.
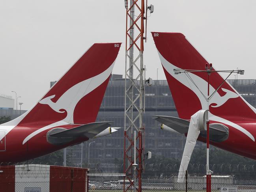
<svg viewBox="0 0 256 192"><path fill-rule="evenodd" d="M171 129L179 132L180 134L185 134L189 130L189 122L188 120L181 119L178 117L170 117L170 116L153 116L155 120L160 123L168 126ZM161 125L162 127L163 125ZM210 140L213 142L222 142L228 138L228 127L222 125L220 123L212 123L210 124ZM167 129L168 130L168 129ZM202 130L200 132L200 136L206 138L206 130Z"/></svg>

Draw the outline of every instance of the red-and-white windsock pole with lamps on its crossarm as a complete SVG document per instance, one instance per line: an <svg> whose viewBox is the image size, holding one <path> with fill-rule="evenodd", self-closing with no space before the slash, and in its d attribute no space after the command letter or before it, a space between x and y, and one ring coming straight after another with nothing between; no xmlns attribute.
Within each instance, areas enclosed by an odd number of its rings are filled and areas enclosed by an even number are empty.
<svg viewBox="0 0 256 192"><path fill-rule="evenodd" d="M192 73L192 72L204 72L207 73L208 75L208 80L207 80L207 96L204 95L204 93L199 89L200 93L204 96L204 98L206 99L207 102L207 134L206 134L206 145L207 145L207 151L206 151L206 192L211 192L211 173L212 171L209 169L209 124L210 124L210 119L209 119L209 101L211 100L211 98L213 97L213 95L215 95L215 93L219 90L219 88L224 84L224 82L226 82L227 78L232 74L232 73L237 73L240 75L244 74L244 70L238 69L237 70L227 70L227 71L215 71L213 70L212 67L212 63L206 63L206 70L191 70L191 69L174 69L174 74L180 74L180 73ZM210 87L210 75L211 73L218 73L218 72L223 72L223 73L229 73L229 75L222 81L222 83L219 85L219 87L213 91L213 93L209 93L209 87ZM192 78L190 78L190 80L192 81L192 83L194 85L196 85L196 83L194 82L194 80Z"/></svg>

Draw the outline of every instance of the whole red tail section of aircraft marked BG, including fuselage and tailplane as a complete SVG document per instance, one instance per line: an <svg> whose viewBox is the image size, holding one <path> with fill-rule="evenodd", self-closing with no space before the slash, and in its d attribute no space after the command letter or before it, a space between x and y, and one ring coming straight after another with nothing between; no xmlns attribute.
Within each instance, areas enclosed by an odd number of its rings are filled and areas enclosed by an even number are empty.
<svg viewBox="0 0 256 192"><path fill-rule="evenodd" d="M31 110L0 125L0 162L22 162L116 131L95 119L120 46L95 43Z"/></svg>

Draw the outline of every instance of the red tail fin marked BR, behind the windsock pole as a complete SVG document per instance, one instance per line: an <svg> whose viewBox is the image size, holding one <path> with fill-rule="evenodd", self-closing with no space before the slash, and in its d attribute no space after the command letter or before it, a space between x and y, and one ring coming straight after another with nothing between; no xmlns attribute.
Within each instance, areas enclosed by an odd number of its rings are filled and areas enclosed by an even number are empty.
<svg viewBox="0 0 256 192"><path fill-rule="evenodd" d="M175 74L174 69L206 70L208 62L181 33L152 32L152 35L179 117L190 119L198 110L207 109L204 98L207 97L207 73ZM210 95L223 81L219 73L211 73ZM255 108L247 103L228 82L224 82L213 95L209 108L215 116L230 120L235 120L237 117L244 119L256 117Z"/></svg>

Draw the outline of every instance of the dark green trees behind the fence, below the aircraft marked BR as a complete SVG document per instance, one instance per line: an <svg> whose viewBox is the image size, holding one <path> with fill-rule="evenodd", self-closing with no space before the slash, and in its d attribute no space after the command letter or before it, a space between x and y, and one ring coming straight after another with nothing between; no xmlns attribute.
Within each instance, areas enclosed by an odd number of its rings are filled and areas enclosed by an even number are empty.
<svg viewBox="0 0 256 192"><path fill-rule="evenodd" d="M115 164L122 165L123 160L115 159ZM164 158L152 154L152 158L145 160L144 177L170 177L179 171L181 159ZM256 176L256 161L245 158L217 147L210 147L210 169L214 174L235 175L237 178L251 178ZM190 164L187 168L190 174L205 174L206 149L194 149ZM123 167L120 167L120 172ZM246 174L245 174L246 173Z"/></svg>

